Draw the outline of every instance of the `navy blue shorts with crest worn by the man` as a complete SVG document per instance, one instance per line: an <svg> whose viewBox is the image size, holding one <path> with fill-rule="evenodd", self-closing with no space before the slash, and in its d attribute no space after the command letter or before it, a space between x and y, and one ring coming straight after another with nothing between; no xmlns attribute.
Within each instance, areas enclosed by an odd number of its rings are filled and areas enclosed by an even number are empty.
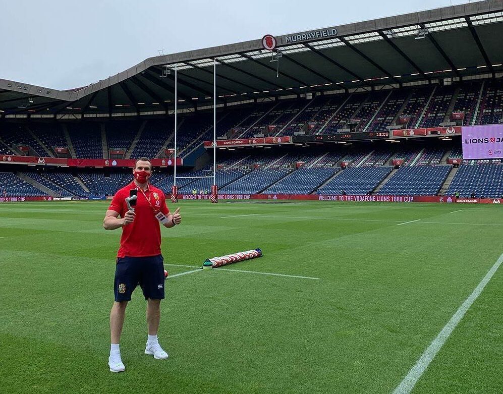
<svg viewBox="0 0 503 394"><path fill-rule="evenodd" d="M145 300L164 298L164 259L162 255L148 257L118 257L115 269L116 301L131 301L131 294L140 285Z"/></svg>

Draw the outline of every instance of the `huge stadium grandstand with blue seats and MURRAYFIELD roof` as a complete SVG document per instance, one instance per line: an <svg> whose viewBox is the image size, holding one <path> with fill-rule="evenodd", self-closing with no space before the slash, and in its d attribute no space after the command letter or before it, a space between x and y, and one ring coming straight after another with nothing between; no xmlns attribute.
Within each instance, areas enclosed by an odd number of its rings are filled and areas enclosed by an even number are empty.
<svg viewBox="0 0 503 394"><path fill-rule="evenodd" d="M503 128L502 33L491 0L161 55L79 89L0 79L0 191L110 196L147 156L166 194L176 164L221 194L500 198L501 151L462 140Z"/></svg>

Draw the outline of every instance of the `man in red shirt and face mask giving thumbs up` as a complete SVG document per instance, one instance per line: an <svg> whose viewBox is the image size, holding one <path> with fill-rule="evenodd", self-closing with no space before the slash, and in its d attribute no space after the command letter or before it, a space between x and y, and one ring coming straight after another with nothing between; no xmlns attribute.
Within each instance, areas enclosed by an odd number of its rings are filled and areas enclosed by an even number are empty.
<svg viewBox="0 0 503 394"><path fill-rule="evenodd" d="M116 193L103 219L105 230L122 228L114 283L115 302L110 312L111 346L108 366L112 372L126 369L121 359L119 342L126 306L138 284L147 300L148 339L145 354L153 355L158 360L168 358L157 340L160 300L164 298L159 222L170 229L181 223L182 216L180 208L171 214L167 209L164 193L149 185L151 174L152 164L148 158L136 160L133 182ZM130 209L126 198L133 195L137 196L136 205Z"/></svg>

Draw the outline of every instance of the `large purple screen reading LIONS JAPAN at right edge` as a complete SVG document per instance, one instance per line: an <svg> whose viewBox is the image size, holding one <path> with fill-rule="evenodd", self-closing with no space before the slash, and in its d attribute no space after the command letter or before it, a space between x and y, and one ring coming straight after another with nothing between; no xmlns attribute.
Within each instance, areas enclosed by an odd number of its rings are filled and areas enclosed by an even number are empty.
<svg viewBox="0 0 503 394"><path fill-rule="evenodd" d="M503 125L463 126L463 158L503 158Z"/></svg>

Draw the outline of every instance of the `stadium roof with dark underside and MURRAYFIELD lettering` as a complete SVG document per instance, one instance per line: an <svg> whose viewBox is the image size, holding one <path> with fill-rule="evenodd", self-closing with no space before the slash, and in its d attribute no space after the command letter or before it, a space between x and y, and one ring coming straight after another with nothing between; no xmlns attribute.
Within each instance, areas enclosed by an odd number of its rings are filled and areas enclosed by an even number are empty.
<svg viewBox="0 0 503 394"><path fill-rule="evenodd" d="M162 114L217 104L503 72L503 0L438 8L277 36L279 62L262 39L148 58L89 86L56 90L0 79L0 116L80 118ZM274 51L275 52L275 51ZM278 76L276 77L276 72ZM102 116L102 115L101 115Z"/></svg>

